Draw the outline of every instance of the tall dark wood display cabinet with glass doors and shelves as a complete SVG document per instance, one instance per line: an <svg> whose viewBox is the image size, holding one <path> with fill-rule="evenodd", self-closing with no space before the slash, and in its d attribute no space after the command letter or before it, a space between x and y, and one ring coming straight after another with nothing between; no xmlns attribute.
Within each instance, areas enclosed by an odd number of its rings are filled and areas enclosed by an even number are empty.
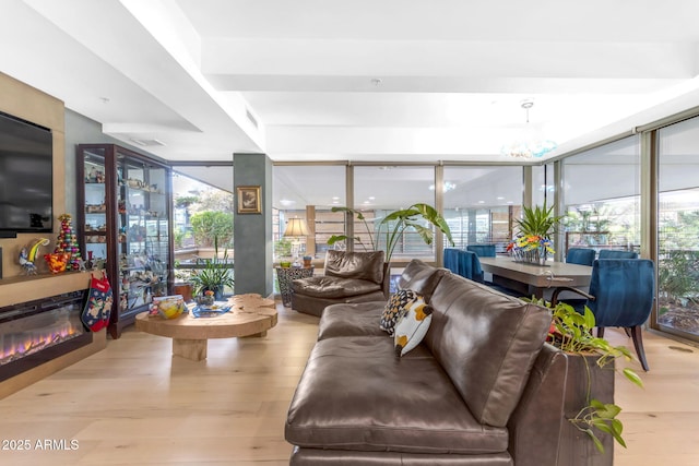
<svg viewBox="0 0 699 466"><path fill-rule="evenodd" d="M78 146L78 228L87 266L104 262L114 338L171 289L170 168L114 144Z"/></svg>

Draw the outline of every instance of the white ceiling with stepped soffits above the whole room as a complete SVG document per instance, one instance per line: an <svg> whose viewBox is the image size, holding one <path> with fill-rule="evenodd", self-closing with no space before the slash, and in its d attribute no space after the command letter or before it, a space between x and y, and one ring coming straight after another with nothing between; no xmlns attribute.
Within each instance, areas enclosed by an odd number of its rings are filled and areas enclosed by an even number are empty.
<svg viewBox="0 0 699 466"><path fill-rule="evenodd" d="M524 99L552 155L698 106L697 17L696 0L3 0L0 71L170 160L489 162Z"/></svg>

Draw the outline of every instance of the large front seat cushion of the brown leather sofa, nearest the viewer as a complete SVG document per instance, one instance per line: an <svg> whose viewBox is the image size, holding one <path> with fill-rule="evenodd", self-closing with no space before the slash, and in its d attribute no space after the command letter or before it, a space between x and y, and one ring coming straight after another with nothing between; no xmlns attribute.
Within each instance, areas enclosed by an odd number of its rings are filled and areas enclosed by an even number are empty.
<svg viewBox="0 0 699 466"><path fill-rule="evenodd" d="M479 425L424 345L403 358L393 339L318 342L285 426L300 447L405 453L506 452L508 431Z"/></svg>

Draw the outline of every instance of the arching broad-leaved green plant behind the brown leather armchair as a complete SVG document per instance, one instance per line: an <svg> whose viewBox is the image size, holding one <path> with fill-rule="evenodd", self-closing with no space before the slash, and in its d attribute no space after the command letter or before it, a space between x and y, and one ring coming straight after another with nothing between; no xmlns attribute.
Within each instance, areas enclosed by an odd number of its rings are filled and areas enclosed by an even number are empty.
<svg viewBox="0 0 699 466"><path fill-rule="evenodd" d="M391 256L395 250L395 246L402 238L403 232L406 229L413 229L417 231L423 241L426 244L431 244L434 240L433 226L440 232L447 236L447 240L453 246L451 238L451 230L447 220L439 215L437 210L428 204L417 203L407 208L401 208L399 211L391 212L381 219L376 226L376 236L371 232L366 217L360 211L350 207L332 207L332 212L346 212L352 215L356 215L357 219L364 223L364 226L369 234L369 242L371 250L376 251L379 247L379 241L382 240L386 243L386 262L391 262ZM425 225L427 224L427 225ZM337 241L346 240L346 235L333 235L328 240L328 244L332 246ZM359 242L365 250L369 250L359 237L354 238Z"/></svg>

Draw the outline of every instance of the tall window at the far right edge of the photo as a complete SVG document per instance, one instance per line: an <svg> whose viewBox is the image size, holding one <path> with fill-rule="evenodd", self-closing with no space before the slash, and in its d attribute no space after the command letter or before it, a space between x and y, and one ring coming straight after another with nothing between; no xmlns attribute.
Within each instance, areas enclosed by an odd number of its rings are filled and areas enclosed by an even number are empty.
<svg viewBox="0 0 699 466"><path fill-rule="evenodd" d="M699 118L659 131L657 324L699 340Z"/></svg>

